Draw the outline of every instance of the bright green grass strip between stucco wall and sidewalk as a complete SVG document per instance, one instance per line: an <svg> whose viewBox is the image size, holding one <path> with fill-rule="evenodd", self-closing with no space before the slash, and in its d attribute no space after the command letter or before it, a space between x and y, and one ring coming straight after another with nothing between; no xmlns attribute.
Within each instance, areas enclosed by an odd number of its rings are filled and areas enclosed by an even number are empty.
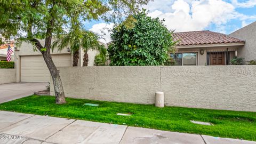
<svg viewBox="0 0 256 144"><path fill-rule="evenodd" d="M65 105L55 105L54 97L31 95L2 103L0 110L256 141L256 113L252 112L156 108L154 105L71 98L66 98L66 101ZM99 104L99 107L84 106L86 102ZM117 116L117 113L132 113L132 116ZM198 125L189 120L211 122L214 125Z"/></svg>

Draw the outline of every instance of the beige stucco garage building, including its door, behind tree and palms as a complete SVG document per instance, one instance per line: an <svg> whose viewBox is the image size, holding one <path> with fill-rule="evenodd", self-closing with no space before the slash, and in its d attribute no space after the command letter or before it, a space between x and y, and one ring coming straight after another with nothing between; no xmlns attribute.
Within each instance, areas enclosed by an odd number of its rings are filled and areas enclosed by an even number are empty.
<svg viewBox="0 0 256 144"><path fill-rule="evenodd" d="M44 44L44 40L40 41ZM78 66L83 65L83 51L80 50ZM54 49L52 59L57 67L73 66L73 55L68 47L62 51ZM94 65L94 57L98 54L95 51L89 51L89 65ZM41 52L33 51L33 46L29 43L22 43L17 50L14 50L14 62L16 68L17 82L49 82L50 73L47 68Z"/></svg>

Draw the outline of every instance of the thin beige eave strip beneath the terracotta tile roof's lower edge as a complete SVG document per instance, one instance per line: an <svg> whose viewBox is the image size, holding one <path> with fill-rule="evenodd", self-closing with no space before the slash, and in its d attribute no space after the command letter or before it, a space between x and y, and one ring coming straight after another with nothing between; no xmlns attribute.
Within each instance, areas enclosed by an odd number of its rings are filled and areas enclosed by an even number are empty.
<svg viewBox="0 0 256 144"><path fill-rule="evenodd" d="M196 47L221 47L221 46L243 46L245 42L239 43L220 43L220 44L198 44L198 45L177 45L175 46L177 49L183 48L196 48Z"/></svg>

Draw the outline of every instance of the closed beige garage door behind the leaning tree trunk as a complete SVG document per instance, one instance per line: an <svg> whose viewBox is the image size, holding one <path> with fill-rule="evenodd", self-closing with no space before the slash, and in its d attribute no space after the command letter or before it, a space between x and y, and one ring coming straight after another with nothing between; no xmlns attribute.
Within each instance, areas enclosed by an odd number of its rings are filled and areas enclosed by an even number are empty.
<svg viewBox="0 0 256 144"><path fill-rule="evenodd" d="M52 55L57 67L70 67L71 55ZM49 82L50 72L42 55L21 57L21 82Z"/></svg>

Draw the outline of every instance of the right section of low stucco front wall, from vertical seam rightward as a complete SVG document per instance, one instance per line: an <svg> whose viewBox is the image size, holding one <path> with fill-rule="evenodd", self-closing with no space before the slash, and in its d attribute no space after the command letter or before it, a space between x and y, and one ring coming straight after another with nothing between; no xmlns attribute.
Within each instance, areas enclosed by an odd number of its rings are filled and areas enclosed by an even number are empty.
<svg viewBox="0 0 256 144"><path fill-rule="evenodd" d="M255 66L162 67L165 105L256 111Z"/></svg>

